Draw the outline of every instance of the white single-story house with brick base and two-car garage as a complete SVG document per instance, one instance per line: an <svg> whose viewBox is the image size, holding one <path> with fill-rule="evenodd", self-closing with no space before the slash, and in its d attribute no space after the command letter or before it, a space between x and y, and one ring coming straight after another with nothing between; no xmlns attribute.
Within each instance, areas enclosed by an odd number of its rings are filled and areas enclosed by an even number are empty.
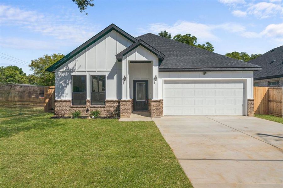
<svg viewBox="0 0 283 188"><path fill-rule="evenodd" d="M55 115L121 117L253 115L254 70L261 67L151 33L135 38L114 24L47 68Z"/></svg>

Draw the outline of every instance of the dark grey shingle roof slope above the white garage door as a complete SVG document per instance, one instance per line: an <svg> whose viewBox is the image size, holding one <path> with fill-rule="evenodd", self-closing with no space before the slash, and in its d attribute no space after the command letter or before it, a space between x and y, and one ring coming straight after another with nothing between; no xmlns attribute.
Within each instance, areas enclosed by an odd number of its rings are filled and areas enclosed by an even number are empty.
<svg viewBox="0 0 283 188"><path fill-rule="evenodd" d="M240 60L203 50L191 45L166 39L155 34L144 34L136 37L150 44L165 55L159 66L159 71L189 71L189 70L261 70Z"/></svg>

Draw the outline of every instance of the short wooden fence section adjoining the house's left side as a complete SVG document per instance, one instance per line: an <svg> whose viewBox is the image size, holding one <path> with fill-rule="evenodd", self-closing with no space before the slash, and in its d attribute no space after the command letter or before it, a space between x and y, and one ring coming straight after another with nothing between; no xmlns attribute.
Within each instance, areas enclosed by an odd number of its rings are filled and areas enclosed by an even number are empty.
<svg viewBox="0 0 283 188"><path fill-rule="evenodd" d="M54 112L55 86L44 87L44 112Z"/></svg>

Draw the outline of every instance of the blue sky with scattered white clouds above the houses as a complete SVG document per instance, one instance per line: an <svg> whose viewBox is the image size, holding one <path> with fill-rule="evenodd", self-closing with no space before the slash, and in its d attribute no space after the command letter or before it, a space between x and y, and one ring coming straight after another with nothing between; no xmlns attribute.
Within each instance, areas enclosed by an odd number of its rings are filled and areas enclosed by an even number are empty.
<svg viewBox="0 0 283 188"><path fill-rule="evenodd" d="M66 55L112 23L134 37L163 30L172 36L190 33L222 55L263 54L283 45L281 0L93 3L86 15L72 0L0 0L0 66L17 65L31 74L31 60Z"/></svg>

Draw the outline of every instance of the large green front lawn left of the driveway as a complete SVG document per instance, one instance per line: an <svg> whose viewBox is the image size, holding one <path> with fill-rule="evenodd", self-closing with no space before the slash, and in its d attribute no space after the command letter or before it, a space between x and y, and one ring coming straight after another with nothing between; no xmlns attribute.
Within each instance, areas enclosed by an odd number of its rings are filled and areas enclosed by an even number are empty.
<svg viewBox="0 0 283 188"><path fill-rule="evenodd" d="M153 122L0 107L0 187L192 187Z"/></svg>

